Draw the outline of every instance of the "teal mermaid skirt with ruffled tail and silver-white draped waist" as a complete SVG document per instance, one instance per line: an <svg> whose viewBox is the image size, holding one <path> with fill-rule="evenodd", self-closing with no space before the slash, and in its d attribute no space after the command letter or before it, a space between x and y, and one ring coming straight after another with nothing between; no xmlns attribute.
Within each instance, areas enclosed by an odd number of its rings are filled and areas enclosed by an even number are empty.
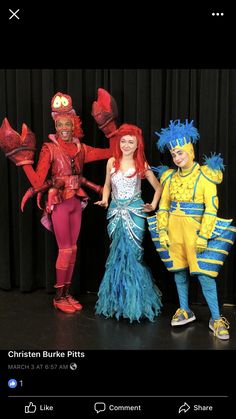
<svg viewBox="0 0 236 419"><path fill-rule="evenodd" d="M143 262L142 240L146 215L140 196L132 200L112 200L107 218L112 240L102 279L96 314L153 321L162 306L161 292Z"/></svg>

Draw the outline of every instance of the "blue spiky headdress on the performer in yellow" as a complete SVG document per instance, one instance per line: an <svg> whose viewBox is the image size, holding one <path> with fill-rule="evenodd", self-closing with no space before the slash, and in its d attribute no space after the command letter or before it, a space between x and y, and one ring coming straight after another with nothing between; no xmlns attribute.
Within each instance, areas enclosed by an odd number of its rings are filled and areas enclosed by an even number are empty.
<svg viewBox="0 0 236 419"><path fill-rule="evenodd" d="M155 132L159 137L158 149L163 152L165 149L172 150L175 147L184 147L186 144L195 144L199 140L199 132L193 126L193 121L181 123L180 119L170 121L168 128L162 128L161 132Z"/></svg>

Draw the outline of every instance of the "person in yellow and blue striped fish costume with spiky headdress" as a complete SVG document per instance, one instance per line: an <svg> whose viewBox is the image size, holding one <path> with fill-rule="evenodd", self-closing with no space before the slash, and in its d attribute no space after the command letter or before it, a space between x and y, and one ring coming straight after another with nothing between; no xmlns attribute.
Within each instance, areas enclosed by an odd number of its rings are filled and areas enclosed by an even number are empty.
<svg viewBox="0 0 236 419"><path fill-rule="evenodd" d="M160 176L163 193L156 216L149 217L149 230L166 268L174 272L180 308L171 325L196 320L188 305L189 272L197 276L211 312L209 328L219 339L229 339L229 322L221 317L215 279L234 243L232 220L217 217L216 185L223 179L221 155L205 157L200 166L194 161L193 143L199 132L193 121L170 121L156 132L160 151L169 149L177 169L152 168Z"/></svg>

